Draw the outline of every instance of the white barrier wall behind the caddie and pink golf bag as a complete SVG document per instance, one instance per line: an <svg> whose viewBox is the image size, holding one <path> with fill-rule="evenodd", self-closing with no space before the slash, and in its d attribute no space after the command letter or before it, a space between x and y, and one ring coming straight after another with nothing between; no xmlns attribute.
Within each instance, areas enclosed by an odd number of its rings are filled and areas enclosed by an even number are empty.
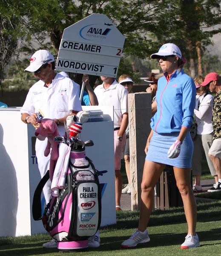
<svg viewBox="0 0 221 256"><path fill-rule="evenodd" d="M90 108L101 109L106 120L83 124L81 133L82 140L95 143L93 147L86 148L95 168L108 171L99 176L102 188L101 225L105 226L116 223L113 107ZM46 232L42 222L32 218L34 190L40 181L34 151L35 129L21 121L19 110L0 109L0 236Z"/></svg>

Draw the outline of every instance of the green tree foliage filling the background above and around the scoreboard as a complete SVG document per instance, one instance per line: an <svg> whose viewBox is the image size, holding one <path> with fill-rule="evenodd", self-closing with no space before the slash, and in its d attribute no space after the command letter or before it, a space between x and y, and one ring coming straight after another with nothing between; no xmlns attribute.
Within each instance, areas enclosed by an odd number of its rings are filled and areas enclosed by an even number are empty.
<svg viewBox="0 0 221 256"><path fill-rule="evenodd" d="M221 0L2 0L2 34L14 41L14 52L30 56L37 49L58 53L63 30L92 13L107 15L125 36L123 57L149 58L161 44L178 44L185 57L197 58L195 45L211 44L221 29ZM12 21L14 23L12 23ZM12 24L12 26L11 26ZM14 24L14 25L13 25ZM209 28L212 28L208 30ZM207 30L206 30L207 29ZM151 36L152 38L149 38ZM17 49L17 42L20 47ZM192 45L190 49L188 46ZM8 63L5 63L8 64ZM146 63L147 64L147 63ZM5 66L5 65L4 65ZM145 65L144 65L145 66ZM126 72L125 72L126 71ZM119 74L135 72L121 61ZM23 72L23 71L22 71ZM136 75L135 75L136 76ZM76 78L80 81L80 78Z"/></svg>

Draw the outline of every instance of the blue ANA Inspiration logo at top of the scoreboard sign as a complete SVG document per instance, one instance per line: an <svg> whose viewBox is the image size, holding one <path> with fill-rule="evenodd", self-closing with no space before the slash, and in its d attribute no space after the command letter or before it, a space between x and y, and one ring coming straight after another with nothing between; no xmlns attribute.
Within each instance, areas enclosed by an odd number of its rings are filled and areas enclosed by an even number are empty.
<svg viewBox="0 0 221 256"><path fill-rule="evenodd" d="M107 24L90 24L80 29L80 37L93 41L96 39L106 39L112 29L107 28ZM89 39L91 38L91 39ZM92 39L93 38L93 39Z"/></svg>

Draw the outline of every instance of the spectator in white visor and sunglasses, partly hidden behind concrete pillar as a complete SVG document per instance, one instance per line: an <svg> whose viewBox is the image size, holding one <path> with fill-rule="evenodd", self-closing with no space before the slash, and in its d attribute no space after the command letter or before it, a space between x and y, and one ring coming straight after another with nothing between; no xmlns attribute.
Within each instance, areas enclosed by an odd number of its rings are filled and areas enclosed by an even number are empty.
<svg viewBox="0 0 221 256"><path fill-rule="evenodd" d="M118 83L123 85L128 93L133 93L132 87L134 85L134 81L131 79L129 75L121 75L118 79ZM126 176L128 180L128 184L122 189L122 194L131 194L131 180L130 180L130 146L129 146L129 125L126 128L126 143L124 148L124 161L125 161L125 169Z"/></svg>

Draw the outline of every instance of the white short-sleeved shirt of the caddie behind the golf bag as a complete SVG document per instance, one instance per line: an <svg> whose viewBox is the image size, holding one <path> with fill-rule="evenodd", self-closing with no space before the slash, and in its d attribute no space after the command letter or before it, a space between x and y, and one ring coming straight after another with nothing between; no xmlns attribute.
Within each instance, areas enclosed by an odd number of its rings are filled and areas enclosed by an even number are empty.
<svg viewBox="0 0 221 256"><path fill-rule="evenodd" d="M39 80L30 88L21 114L31 115L40 109L44 118L58 119L71 114L72 110L82 110L79 85L74 81L57 73L49 87L44 84Z"/></svg>

